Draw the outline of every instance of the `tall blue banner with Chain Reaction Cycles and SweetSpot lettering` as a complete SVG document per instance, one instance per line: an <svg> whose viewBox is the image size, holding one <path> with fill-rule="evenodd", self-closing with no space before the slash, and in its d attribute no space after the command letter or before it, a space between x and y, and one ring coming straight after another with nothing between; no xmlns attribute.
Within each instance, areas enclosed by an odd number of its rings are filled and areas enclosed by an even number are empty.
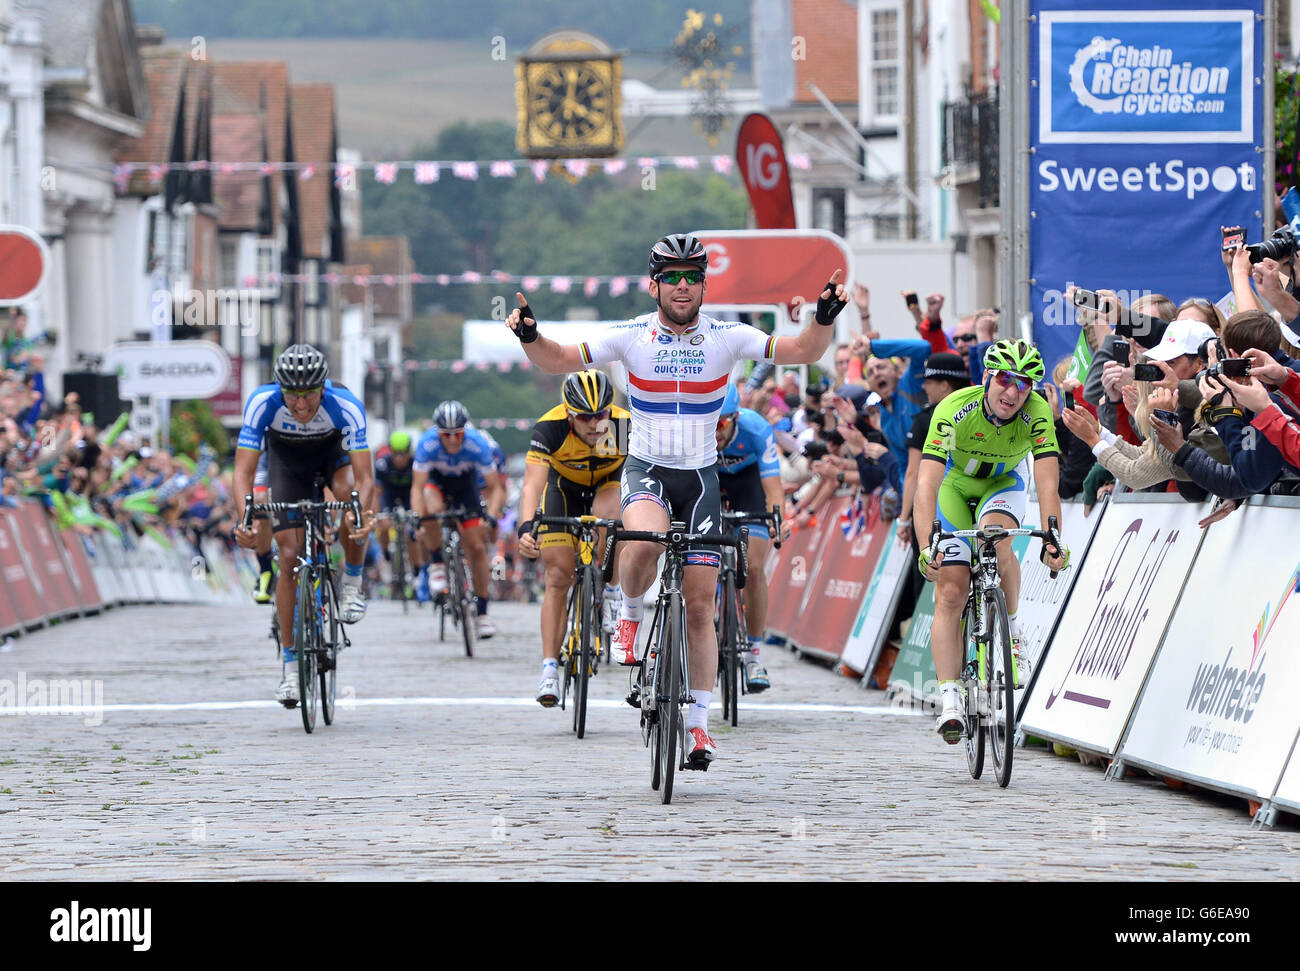
<svg viewBox="0 0 1300 971"><path fill-rule="evenodd" d="M1030 299L1049 373L1079 337L1067 285L1214 300L1219 227L1262 234L1262 0L1118 6L1030 3Z"/></svg>

